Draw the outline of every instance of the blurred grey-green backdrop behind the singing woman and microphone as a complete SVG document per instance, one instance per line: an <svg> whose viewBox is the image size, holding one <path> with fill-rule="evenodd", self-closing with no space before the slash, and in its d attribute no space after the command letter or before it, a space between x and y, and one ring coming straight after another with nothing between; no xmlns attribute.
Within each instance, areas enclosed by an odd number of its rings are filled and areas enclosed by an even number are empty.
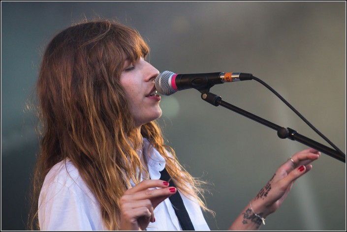
<svg viewBox="0 0 347 232"><path fill-rule="evenodd" d="M25 109L49 40L81 19L137 29L162 72L246 72L278 91L346 153L346 2L1 1L1 230L26 230L38 141ZM226 102L328 145L256 81L211 88ZM208 181L211 230L227 230L278 166L306 146L195 89L163 96L164 135L181 163ZM346 165L324 153L261 230L346 230Z"/></svg>

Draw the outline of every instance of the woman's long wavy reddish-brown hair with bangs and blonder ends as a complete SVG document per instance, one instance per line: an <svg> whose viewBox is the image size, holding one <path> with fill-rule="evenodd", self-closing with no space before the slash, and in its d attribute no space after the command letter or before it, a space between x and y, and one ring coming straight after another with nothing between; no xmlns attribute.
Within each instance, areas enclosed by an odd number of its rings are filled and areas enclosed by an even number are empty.
<svg viewBox="0 0 347 232"><path fill-rule="evenodd" d="M164 144L156 121L141 126L130 113L120 76L126 60L149 53L139 33L117 22L91 21L73 25L48 44L36 85L40 118L40 149L33 174L29 228L39 229L38 196L46 174L67 158L95 194L104 228L120 228L120 198L139 182L142 170L136 147L147 138L166 160L179 191L196 198L202 209L201 181L177 161ZM115 184L117 183L117 184Z"/></svg>

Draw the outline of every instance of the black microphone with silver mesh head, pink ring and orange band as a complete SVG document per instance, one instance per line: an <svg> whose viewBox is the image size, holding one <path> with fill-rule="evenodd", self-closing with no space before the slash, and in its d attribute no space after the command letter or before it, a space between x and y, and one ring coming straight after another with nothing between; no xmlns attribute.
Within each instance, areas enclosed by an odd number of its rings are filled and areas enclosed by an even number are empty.
<svg viewBox="0 0 347 232"><path fill-rule="evenodd" d="M195 88L197 90L209 89L217 84L225 82L252 80L250 73L197 73L197 74L175 74L164 71L154 80L156 90L163 95L171 95L178 90Z"/></svg>

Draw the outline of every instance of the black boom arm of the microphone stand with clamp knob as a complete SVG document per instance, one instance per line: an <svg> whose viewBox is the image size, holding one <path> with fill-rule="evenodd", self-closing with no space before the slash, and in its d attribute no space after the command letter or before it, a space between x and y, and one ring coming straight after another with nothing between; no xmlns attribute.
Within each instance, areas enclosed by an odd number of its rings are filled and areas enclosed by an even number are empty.
<svg viewBox="0 0 347 232"><path fill-rule="evenodd" d="M308 145L309 147L315 148L318 151L321 151L337 160L340 160L344 163L346 163L346 155L340 154L339 152L337 152L334 149L331 149L328 146L322 145L317 143L316 141L307 138L303 135L300 135L297 131L291 129L291 128L284 128L281 127L279 125L276 125L275 123L272 123L268 120L265 120L264 118L261 118L259 116L253 115L250 112L247 112L245 110L242 110L234 105L231 105L223 100L221 100L221 96L218 96L214 93L209 92L209 89L200 89L199 90L201 92L201 98L214 105L214 106L219 106L221 105L222 107L225 107L226 109L229 109L231 111L234 111L240 115L246 116L256 122L259 122L267 127L270 127L274 130L277 131L277 135L278 137L280 137L281 139L290 139L290 140L294 140L297 141L299 143L302 143L304 145Z"/></svg>

